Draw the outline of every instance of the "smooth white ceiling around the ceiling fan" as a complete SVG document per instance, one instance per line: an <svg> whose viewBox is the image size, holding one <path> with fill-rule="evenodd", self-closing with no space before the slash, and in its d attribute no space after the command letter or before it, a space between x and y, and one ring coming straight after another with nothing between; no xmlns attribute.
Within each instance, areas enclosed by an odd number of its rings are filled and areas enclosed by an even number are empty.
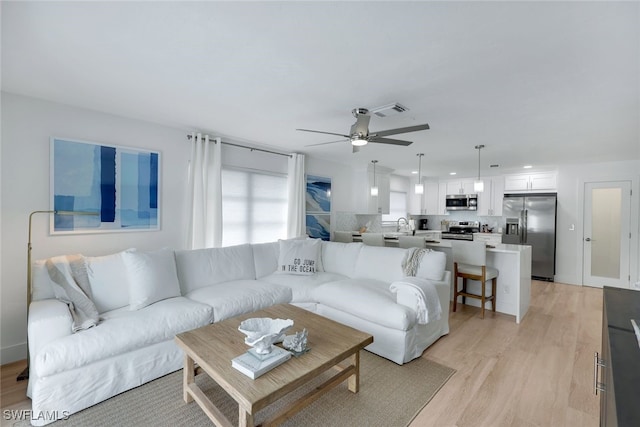
<svg viewBox="0 0 640 427"><path fill-rule="evenodd" d="M640 4L2 2L2 89L397 173L640 159ZM348 142L355 107L409 108ZM490 169L497 164L499 168Z"/></svg>

